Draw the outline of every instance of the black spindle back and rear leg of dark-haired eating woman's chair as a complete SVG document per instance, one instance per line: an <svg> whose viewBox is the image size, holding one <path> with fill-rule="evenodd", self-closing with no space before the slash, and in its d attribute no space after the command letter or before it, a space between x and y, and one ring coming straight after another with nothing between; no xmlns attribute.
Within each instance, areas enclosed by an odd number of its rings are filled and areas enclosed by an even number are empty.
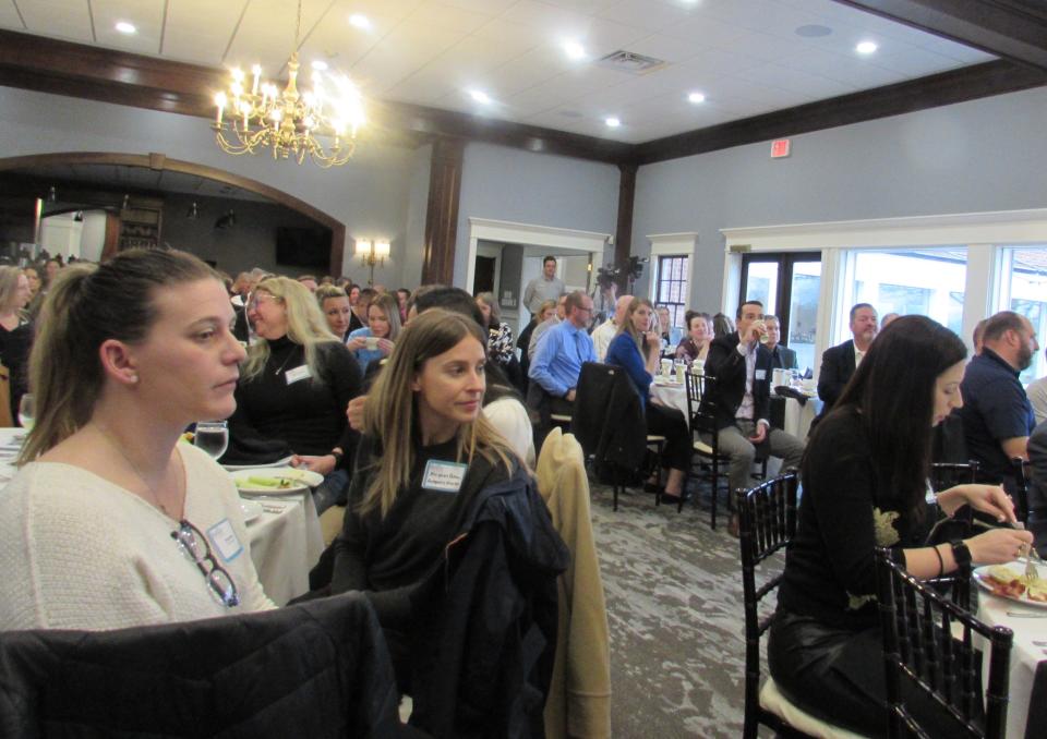
<svg viewBox="0 0 1047 739"><path fill-rule="evenodd" d="M760 616L760 603L778 590L779 572L756 585L756 568L784 549L796 535L795 471L768 480L748 490L736 493L738 543L742 547L742 590L745 608L745 736L755 737L757 724L778 731L783 722L760 707L760 638L771 627L774 614Z"/></svg>

